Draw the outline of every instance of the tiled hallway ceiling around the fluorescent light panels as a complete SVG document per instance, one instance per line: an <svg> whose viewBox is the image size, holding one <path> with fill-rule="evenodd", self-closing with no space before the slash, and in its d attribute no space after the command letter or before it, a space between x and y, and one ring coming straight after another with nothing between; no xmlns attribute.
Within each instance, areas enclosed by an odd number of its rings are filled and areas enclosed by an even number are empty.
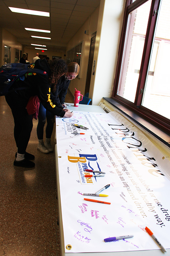
<svg viewBox="0 0 170 256"><path fill-rule="evenodd" d="M45 44L49 51L65 52L69 40L99 4L100 0L0 0L0 26L30 49L36 47L31 44ZM50 12L50 17L11 12L8 6ZM51 33L25 28L45 29ZM51 40L31 36L51 37Z"/></svg>

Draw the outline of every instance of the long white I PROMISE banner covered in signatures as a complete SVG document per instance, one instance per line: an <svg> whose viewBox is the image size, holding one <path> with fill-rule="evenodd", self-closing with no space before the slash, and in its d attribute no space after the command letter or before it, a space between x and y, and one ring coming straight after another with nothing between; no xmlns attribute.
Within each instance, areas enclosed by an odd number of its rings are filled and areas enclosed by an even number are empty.
<svg viewBox="0 0 170 256"><path fill-rule="evenodd" d="M56 139L65 252L160 249L146 226L170 248L169 161L142 132L116 111L77 111L72 118L56 117ZM86 178L98 175L86 169L106 174ZM108 184L100 193L107 197L83 195ZM104 242L124 235L134 237Z"/></svg>

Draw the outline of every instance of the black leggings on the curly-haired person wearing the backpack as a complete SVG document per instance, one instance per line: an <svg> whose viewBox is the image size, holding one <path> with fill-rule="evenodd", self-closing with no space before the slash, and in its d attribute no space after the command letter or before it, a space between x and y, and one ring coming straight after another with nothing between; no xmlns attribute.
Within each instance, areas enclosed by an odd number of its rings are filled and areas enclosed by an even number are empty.
<svg viewBox="0 0 170 256"><path fill-rule="evenodd" d="M25 154L33 128L33 117L28 115L26 111L28 100L23 99L17 92L8 93L5 99L11 108L14 118L14 138L18 153Z"/></svg>

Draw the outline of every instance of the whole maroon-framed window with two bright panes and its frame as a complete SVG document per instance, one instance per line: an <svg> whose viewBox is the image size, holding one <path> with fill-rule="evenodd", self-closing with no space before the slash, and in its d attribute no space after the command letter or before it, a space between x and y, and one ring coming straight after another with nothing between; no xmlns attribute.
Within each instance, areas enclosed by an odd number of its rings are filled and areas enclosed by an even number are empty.
<svg viewBox="0 0 170 256"><path fill-rule="evenodd" d="M127 0L112 98L170 132L170 1Z"/></svg>

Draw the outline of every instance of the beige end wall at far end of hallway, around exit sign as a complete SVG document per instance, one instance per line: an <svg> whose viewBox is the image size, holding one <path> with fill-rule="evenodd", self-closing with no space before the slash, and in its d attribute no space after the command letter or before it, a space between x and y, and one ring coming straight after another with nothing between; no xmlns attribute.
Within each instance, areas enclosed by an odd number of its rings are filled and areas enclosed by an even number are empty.
<svg viewBox="0 0 170 256"><path fill-rule="evenodd" d="M52 60L53 56L58 56L58 57L62 57L63 60L65 60L66 57L64 57L64 54L66 54L66 52L51 52L51 51L45 51L45 52L41 52L41 50L37 50L37 49L29 49L27 47L23 47L23 51L22 53L28 53L28 61L30 63L32 63L33 57L35 57L36 53L38 52L39 54L42 55L47 55L47 57L50 58L50 60Z"/></svg>

